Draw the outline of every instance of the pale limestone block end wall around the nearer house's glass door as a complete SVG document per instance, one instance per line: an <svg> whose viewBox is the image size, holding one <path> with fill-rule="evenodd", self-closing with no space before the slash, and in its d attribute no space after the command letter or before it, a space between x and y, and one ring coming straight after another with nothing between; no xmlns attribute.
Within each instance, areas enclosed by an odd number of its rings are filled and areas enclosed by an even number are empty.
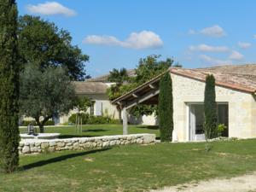
<svg viewBox="0 0 256 192"><path fill-rule="evenodd" d="M171 74L173 121L178 141L189 138L189 103L203 102L205 82ZM229 105L229 137L256 137L255 96L216 86L216 101Z"/></svg>

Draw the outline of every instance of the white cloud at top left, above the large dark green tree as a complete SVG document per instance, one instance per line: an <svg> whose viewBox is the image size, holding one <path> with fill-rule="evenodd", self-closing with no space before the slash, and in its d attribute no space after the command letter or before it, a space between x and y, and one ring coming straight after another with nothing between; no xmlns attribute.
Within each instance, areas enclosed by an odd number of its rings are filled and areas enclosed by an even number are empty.
<svg viewBox="0 0 256 192"><path fill-rule="evenodd" d="M26 6L26 9L32 14L39 15L77 15L73 9L68 9L57 2L38 3L37 5L29 4Z"/></svg>

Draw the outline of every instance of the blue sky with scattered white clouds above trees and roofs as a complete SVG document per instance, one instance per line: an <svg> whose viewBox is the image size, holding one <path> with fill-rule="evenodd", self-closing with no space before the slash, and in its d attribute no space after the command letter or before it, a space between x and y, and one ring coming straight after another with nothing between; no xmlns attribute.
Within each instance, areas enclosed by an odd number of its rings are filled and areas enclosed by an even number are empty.
<svg viewBox="0 0 256 192"><path fill-rule="evenodd" d="M134 68L147 55L183 67L256 61L256 1L20 0L19 14L67 29L91 76Z"/></svg>

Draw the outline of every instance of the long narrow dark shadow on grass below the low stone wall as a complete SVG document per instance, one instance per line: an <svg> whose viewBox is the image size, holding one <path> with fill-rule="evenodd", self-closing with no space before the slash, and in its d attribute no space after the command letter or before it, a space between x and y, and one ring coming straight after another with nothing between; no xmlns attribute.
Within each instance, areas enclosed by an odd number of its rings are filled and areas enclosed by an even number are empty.
<svg viewBox="0 0 256 192"><path fill-rule="evenodd" d="M32 168L36 168L38 166L46 166L46 165L49 165L51 163L60 162L62 160L68 160L68 159L71 159L71 158L84 156L84 155L87 155L87 154L96 154L96 153L99 153L99 152L107 151L109 149L111 149L111 148L100 148L100 149L95 149L95 150L90 150L90 151L79 152L79 153L75 153L75 154L64 154L64 155L61 155L61 156L58 156L58 157L55 157L55 158L51 158L49 160L39 160L37 162L28 164L26 166L21 166L20 170L26 171L26 170L30 170Z"/></svg>

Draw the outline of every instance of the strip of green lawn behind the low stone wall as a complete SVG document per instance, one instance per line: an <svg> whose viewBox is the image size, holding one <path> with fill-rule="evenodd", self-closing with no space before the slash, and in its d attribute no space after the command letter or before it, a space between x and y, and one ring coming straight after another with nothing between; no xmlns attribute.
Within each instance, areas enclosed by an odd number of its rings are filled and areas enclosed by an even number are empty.
<svg viewBox="0 0 256 192"><path fill-rule="evenodd" d="M122 125L83 125L83 131L76 133L74 126L63 127L45 127L45 132L58 132L61 133L61 138L67 137L96 137L96 136L109 136L109 135L122 135ZM129 125L129 134L136 133L154 133L159 137L159 129L157 126L148 125ZM26 128L20 128L20 132L26 132Z"/></svg>

